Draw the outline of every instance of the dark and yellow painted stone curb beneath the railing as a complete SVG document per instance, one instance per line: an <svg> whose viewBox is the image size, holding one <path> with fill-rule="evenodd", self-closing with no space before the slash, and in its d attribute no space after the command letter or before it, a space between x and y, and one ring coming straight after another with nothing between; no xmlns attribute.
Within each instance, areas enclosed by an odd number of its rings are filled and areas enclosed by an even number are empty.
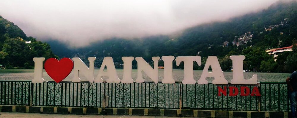
<svg viewBox="0 0 297 118"><path fill-rule="evenodd" d="M144 108L80 108L53 106L0 106L1 112L46 114L101 114L138 116L178 116L206 118L288 118L290 112L214 111L191 109L144 109Z"/></svg>

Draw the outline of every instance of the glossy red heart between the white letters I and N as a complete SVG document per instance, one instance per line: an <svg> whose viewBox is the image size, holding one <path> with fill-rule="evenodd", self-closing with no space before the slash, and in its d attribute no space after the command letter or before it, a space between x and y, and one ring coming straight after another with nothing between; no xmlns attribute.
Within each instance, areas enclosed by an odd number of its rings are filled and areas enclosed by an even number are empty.
<svg viewBox="0 0 297 118"><path fill-rule="evenodd" d="M73 69L73 61L70 58L49 58L44 63L46 73L57 83L65 79Z"/></svg>

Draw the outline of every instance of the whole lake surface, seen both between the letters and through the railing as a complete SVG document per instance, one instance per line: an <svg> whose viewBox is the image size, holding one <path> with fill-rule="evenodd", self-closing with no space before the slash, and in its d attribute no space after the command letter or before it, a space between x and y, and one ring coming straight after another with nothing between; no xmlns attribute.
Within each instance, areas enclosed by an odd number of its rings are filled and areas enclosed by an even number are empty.
<svg viewBox="0 0 297 118"><path fill-rule="evenodd" d="M99 69L95 69L94 71L94 75L97 76ZM159 81L162 81L163 78L163 74L164 74L164 70L159 69L158 71L159 73ZM122 79L123 77L123 69L117 69L117 73L120 79ZM197 81L200 76L201 76L202 71L201 70L194 70L194 78ZM228 81L232 80L232 72L223 72L225 78ZM257 74L258 75L258 82L285 82L285 79L290 75L290 73L254 73L254 72L244 72L244 77L246 79L251 78L253 76L253 74ZM34 77L34 70L26 70L26 69L5 69L5 70L0 70L0 80L32 80L32 78ZM73 77L73 72L70 73L70 75L64 79L64 81L71 81ZM43 78L46 81L53 81L48 74L45 72L45 70L43 70ZM82 79L81 81L87 81L86 78L83 76L83 74L80 74L80 78ZM132 78L137 78L137 69L133 69L132 70ZM143 74L143 78L145 79L145 81L151 81L149 79L148 76L146 76L146 74ZM184 70L173 70L173 78L176 81L182 81L184 78ZM213 78L208 78L209 81L213 80ZM64 86L66 85L66 83L62 83ZM59 91L56 88L59 88L59 86L61 86L62 84L57 84L57 87L53 87L53 84L41 84L42 87L46 87L46 91ZM71 85L71 86L70 86ZM92 91L93 94L91 94L91 96L88 96L88 94L82 94L82 93L86 93L86 89L85 88L87 86L87 84L83 84L82 83L68 83L67 86L65 86L67 89L63 89L62 91L60 91L60 95L63 94L63 96L59 96L61 99L65 99L65 101L63 101L63 104L68 104L69 106L79 106L82 104L82 106L86 106L86 104L91 101L91 106L95 103L97 103L100 106L100 100L99 98L102 98L103 95L103 86L105 86L105 84L98 84L99 86L97 87L98 91ZM179 104L179 100L178 100L178 84L172 84L170 85L170 87L168 86L168 88L165 88L165 85L160 85L157 87L159 88L159 93L157 92L158 89L156 89L156 85L152 84L133 84L129 86L129 84L126 84L126 86L122 86L122 84L118 84L116 87L116 84L107 84L107 94L111 95L110 96L110 102L109 102L109 106L123 106L124 107L129 107L129 104L131 104L132 106L148 106L148 107L152 107L155 108L157 105L157 99L159 100L158 102L158 107L163 108L163 107L172 107L172 108L179 108L178 104ZM35 87L34 87L35 86ZM56 102L52 102L52 98L54 96L53 93L51 94L47 94L46 96L41 95L38 93L43 93L40 91L44 91L42 89L37 89L37 84L34 85L33 88L33 92L37 90L36 94L33 95L33 97L36 97L37 100L41 97L42 101L45 101L44 104L46 102L48 102L50 105L55 106L55 105L59 105L59 99L57 99ZM40 87L40 85L38 85ZM48 87L49 86L49 87ZM72 87L73 86L73 87ZM112 88L113 86L113 88ZM134 87L133 87L134 86ZM135 88L136 86L136 88ZM171 87L172 86L172 87ZM186 85L187 86L187 85ZM245 109L247 108L247 106L251 105L251 110L255 111L256 109L256 97L241 97L241 96L236 96L236 97L229 97L229 99L226 99L227 96L222 96L219 97L217 96L217 89L216 86L211 85L211 84L206 84L205 86L201 86L201 85L197 85L195 88L193 85L189 85L188 88L183 85L182 93L183 93L183 107L189 107L189 108L206 108L206 109L221 109L224 106L224 109L226 109L228 107L228 109ZM270 86L270 85L268 85ZM271 93L271 95L273 95L271 98L271 100L277 101L276 96L278 96L278 90L277 90L277 86L276 85L271 85L273 86L271 89L273 90ZM83 88L82 88L83 87ZM91 88L94 86L91 86ZM122 88L123 87L123 88ZM9 87L8 87L9 88ZM194 89L195 88L195 89ZM281 86L281 93L285 91L286 87L285 86ZM48 90L49 89L49 90ZM128 89L130 89L130 91L127 91ZM197 89L197 90L196 90ZM270 88L269 88L270 89ZM5 90L5 89L4 89ZM66 92L67 90L67 92ZM84 91L81 91L84 90ZM89 90L89 89L87 89ZM95 90L93 88L93 90ZM162 92L164 90L164 92ZM194 90L196 90L194 92ZM262 94L264 95L266 92L263 91L269 91L268 88L267 89L261 89L262 90ZM76 92L75 92L76 91ZM80 92L79 92L80 91ZM132 92L131 92L132 91ZM73 93L72 93L73 92ZM158 93L158 94L154 94L154 93ZM197 92L197 93L196 93ZM96 93L96 94L94 94ZM102 93L102 94L101 94ZM131 94L132 93L132 94ZM136 94L135 94L136 93ZM165 94L166 93L166 94ZM168 93L168 94L167 94ZM281 96L287 96L286 94L287 92L285 92L284 94L281 94ZM264 96L269 96L270 92L267 92L266 95ZM80 97L78 97L80 95ZM83 95L83 96L82 96ZM139 95L139 96L138 96ZM158 97L156 95L159 95ZM195 96L194 96L195 95ZM197 96L196 96L197 95ZM64 97L65 96L65 97ZM75 96L75 97L74 97ZM73 97L73 98L72 98ZM47 101L47 99L50 99L50 101ZM76 99L75 99L76 98ZM98 98L95 100L95 98ZM165 98L166 98L166 105L163 104L163 101L165 103ZM207 99L208 100L207 100ZM227 97L228 98L228 97ZM284 98L284 99L283 99ZM45 100L46 99L46 100ZM126 100L126 101L122 101L122 100ZM268 99L266 97L266 99ZM266 99L262 99L263 101ZM28 98L27 98L28 100ZM89 101L88 101L89 100ZM197 100L197 103L196 102ZM228 102L226 102L226 100L228 100ZM35 104L41 104L43 103L42 101L35 101L33 98L33 103ZM135 102L136 101L136 102ZM170 101L170 102L168 102ZM223 102L224 101L224 102ZM269 100L270 101L270 100ZM270 102L268 100L266 102L262 102L262 106L266 106L266 104L270 105ZM139 103L138 103L139 102ZM223 103L223 104L222 104ZM222 104L222 106L221 106ZM227 106L227 104L229 106ZM281 98L281 102L280 102L281 108L282 110L286 110L287 109L287 99L285 97ZM164 106L163 106L164 105ZM197 106L196 106L197 105ZM282 107L284 106L284 107ZM275 107L277 108L277 107ZM274 107L273 107L274 109Z"/></svg>

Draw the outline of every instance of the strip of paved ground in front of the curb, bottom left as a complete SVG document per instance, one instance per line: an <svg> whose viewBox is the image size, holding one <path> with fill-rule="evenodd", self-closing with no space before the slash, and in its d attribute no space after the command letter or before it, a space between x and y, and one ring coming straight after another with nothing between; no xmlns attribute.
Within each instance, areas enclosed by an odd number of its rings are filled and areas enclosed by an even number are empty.
<svg viewBox="0 0 297 118"><path fill-rule="evenodd" d="M171 118L167 116L129 116L129 115L73 115L0 112L0 118ZM179 117L174 117L179 118Z"/></svg>

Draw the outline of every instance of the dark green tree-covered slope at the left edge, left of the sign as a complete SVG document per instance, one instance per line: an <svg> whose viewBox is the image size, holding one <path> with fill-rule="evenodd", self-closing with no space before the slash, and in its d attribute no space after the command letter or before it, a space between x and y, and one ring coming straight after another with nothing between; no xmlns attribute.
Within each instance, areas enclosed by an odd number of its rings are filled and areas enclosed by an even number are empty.
<svg viewBox="0 0 297 118"><path fill-rule="evenodd" d="M0 16L0 64L6 68L34 68L34 57L58 58L50 45L27 37L18 26Z"/></svg>

